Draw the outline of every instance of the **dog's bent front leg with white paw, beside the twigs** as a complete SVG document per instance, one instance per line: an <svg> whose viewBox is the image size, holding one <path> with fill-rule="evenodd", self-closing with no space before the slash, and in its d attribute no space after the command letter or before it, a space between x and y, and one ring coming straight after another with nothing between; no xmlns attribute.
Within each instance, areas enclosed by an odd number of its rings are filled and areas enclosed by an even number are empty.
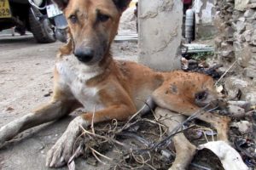
<svg viewBox="0 0 256 170"><path fill-rule="evenodd" d="M96 111L93 122L104 122L112 119L125 120L135 113L136 109L126 105L112 105L102 111ZM73 146L81 133L80 127L88 127L92 122L92 113L86 113L73 119L61 138L49 150L46 159L47 167L61 167L73 154Z"/></svg>

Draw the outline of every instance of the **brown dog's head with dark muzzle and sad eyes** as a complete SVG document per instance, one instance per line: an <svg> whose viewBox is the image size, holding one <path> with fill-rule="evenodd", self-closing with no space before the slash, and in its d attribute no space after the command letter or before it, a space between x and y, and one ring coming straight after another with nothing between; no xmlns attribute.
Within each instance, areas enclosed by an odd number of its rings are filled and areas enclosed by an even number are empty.
<svg viewBox="0 0 256 170"><path fill-rule="evenodd" d="M53 0L67 18L73 54L94 65L108 53L119 18L131 0Z"/></svg>

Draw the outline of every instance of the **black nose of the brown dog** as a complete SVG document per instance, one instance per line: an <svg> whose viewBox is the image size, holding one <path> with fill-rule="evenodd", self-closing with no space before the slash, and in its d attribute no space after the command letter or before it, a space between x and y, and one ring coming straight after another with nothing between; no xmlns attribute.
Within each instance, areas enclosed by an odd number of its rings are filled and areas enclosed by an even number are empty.
<svg viewBox="0 0 256 170"><path fill-rule="evenodd" d="M74 51L74 55L79 61L86 63L93 58L94 51L91 48L79 48Z"/></svg>

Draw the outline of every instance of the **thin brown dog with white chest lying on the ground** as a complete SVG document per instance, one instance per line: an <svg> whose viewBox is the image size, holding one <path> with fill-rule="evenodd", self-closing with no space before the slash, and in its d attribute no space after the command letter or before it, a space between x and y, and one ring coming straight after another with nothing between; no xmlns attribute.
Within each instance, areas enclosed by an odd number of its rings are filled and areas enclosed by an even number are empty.
<svg viewBox="0 0 256 170"><path fill-rule="evenodd" d="M73 154L80 126L92 121L125 120L142 107L137 99L151 97L156 105L184 116L198 104L214 99L211 77L198 73L154 72L134 62L113 60L110 45L119 18L131 0L54 0L67 17L69 42L60 49L54 71L54 95L49 104L0 128L0 144L27 128L54 121L83 106L88 112L70 122L49 150L46 165L61 167ZM227 140L228 119L208 112L198 116Z"/></svg>

